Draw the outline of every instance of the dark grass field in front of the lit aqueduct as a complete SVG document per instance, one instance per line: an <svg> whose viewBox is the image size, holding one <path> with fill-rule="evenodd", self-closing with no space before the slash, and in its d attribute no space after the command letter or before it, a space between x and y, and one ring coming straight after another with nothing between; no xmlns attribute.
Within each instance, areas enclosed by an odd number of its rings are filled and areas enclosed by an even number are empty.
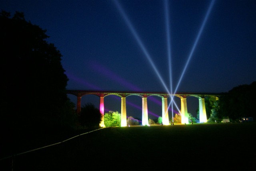
<svg viewBox="0 0 256 171"><path fill-rule="evenodd" d="M104 128L2 160L0 170L256 170L255 142L256 123Z"/></svg>

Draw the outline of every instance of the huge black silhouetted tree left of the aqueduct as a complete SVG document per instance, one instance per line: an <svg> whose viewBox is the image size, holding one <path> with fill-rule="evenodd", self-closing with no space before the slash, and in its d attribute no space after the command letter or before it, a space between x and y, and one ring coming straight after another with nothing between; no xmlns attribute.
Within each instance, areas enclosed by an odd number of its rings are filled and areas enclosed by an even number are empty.
<svg viewBox="0 0 256 171"><path fill-rule="evenodd" d="M60 51L46 41L46 30L27 22L22 12L11 18L2 11L0 23L1 120L6 128L43 130L70 124L68 78Z"/></svg>

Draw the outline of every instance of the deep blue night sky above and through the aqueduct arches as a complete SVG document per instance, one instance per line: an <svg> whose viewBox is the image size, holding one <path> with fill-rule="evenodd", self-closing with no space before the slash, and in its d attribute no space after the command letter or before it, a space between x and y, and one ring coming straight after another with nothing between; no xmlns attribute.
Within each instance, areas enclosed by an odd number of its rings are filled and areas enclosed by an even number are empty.
<svg viewBox="0 0 256 171"><path fill-rule="evenodd" d="M228 92L256 81L255 0L0 0L0 7L47 30L63 55L67 89ZM141 118L141 98L126 101L127 115ZM149 118L161 116L160 101L148 97ZM99 108L99 97L87 102ZM104 102L105 112L121 111L119 97ZM195 115L198 100L187 103Z"/></svg>

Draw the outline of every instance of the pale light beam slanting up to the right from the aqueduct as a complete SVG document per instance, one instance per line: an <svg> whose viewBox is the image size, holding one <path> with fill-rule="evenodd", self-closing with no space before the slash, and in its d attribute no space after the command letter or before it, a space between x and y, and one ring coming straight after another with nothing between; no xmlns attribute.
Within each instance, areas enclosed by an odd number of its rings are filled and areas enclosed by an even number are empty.
<svg viewBox="0 0 256 171"><path fill-rule="evenodd" d="M191 57L192 57L192 55L193 55L193 53L194 53L194 50L195 50L196 45L197 45L197 43L198 43L198 40L199 40L199 38L200 38L200 36L201 36L201 34L202 34L202 31L203 31L203 29L204 29L204 26L205 26L205 24L206 24L206 21L207 21L209 15L210 15L210 12L211 12L211 10L212 10L212 6L214 5L214 2L215 2L215 0L212 0L211 3L210 3L210 5L209 5L209 7L208 7L207 13L206 13L206 15L205 15L205 17L204 17L204 20L203 20L203 23L202 23L202 25L201 25L201 27L200 27L200 30L199 30L199 32L198 32L198 35L197 35L196 40L195 40L195 42L194 42L194 45L193 45L193 47L192 47L192 49L191 49L191 51L190 51L190 54L189 54L189 56L188 56L188 60L187 60L187 62L186 62L186 65L185 65L185 67L184 67L184 69L183 69L183 71L182 71L182 75L180 76L180 79L179 79L179 81L178 81L178 84L177 84L177 86L176 86L176 88L175 88L174 94L176 93L176 91L177 91L177 89L178 89L178 87L179 87L179 85L180 85L180 82L181 82L181 80L182 80L182 78L183 78L183 75L184 75L184 73L185 73L185 71L186 71L186 69L187 69L187 67L188 67L188 64L189 64L189 62L190 62L190 59L191 59ZM173 99L172 99L172 100L173 100ZM172 101L172 100L171 100L171 101ZM170 105L169 105L169 106L170 106ZM168 106L168 108L169 108L169 106Z"/></svg>

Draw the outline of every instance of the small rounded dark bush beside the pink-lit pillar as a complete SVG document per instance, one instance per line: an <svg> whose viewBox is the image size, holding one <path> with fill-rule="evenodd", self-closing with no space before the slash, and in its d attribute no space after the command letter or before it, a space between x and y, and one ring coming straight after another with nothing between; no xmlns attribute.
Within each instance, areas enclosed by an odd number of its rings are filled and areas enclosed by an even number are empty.
<svg viewBox="0 0 256 171"><path fill-rule="evenodd" d="M100 110L92 103L87 103L81 108L80 124L87 128L98 128L102 121Z"/></svg>

